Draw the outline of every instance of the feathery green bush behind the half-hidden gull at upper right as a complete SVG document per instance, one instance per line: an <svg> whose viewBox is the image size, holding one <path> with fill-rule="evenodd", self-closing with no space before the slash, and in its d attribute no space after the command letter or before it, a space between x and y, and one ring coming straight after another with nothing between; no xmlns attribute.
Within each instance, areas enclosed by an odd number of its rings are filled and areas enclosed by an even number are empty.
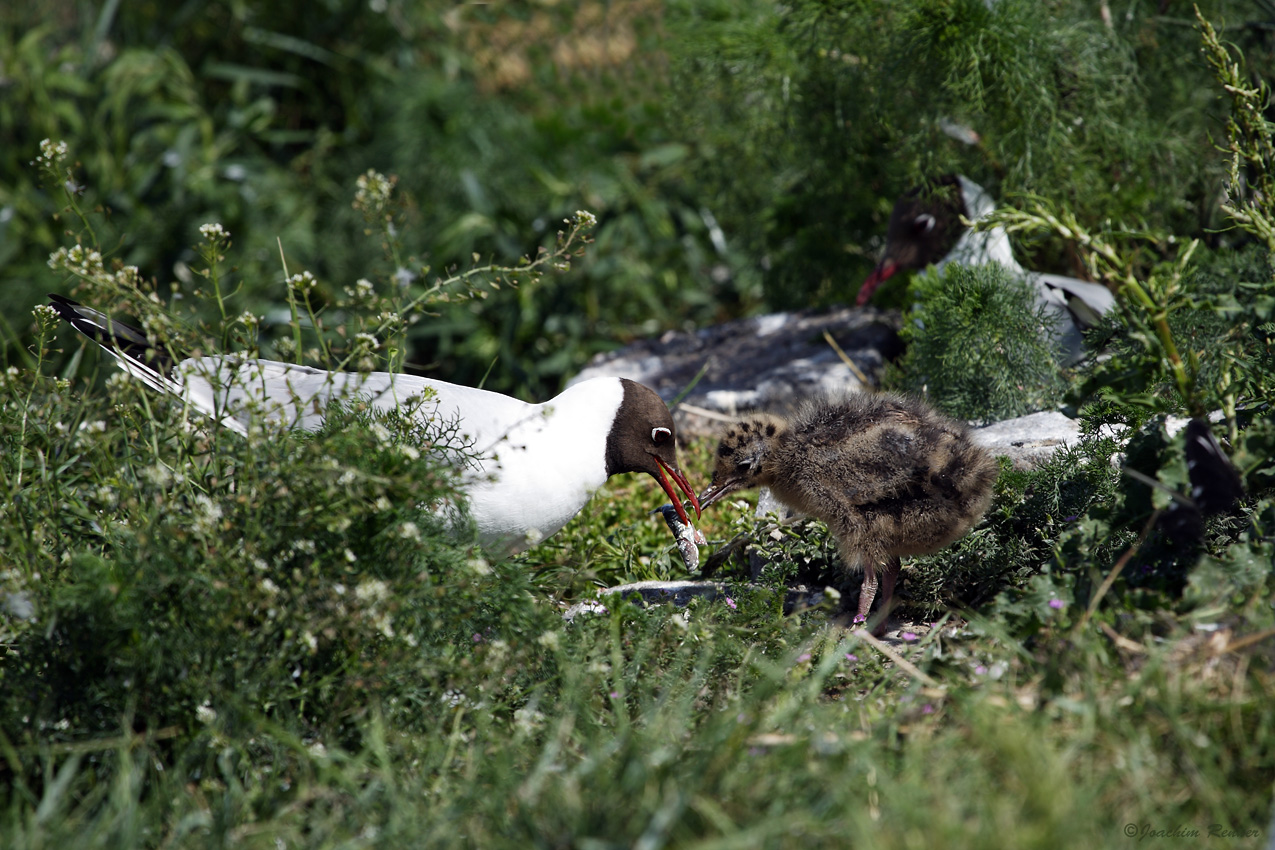
<svg viewBox="0 0 1275 850"><path fill-rule="evenodd" d="M1270 64L1251 4L1205 5L1252 68ZM703 178L729 199L727 231L765 259L771 303L847 301L876 263L892 200L950 172L1002 200L1048 196L1090 227L1219 241L1216 89L1195 29L1148 5L1102 9L1105 19L1093 4L1030 0L700 13L674 66L688 93L678 120L706 139ZM1060 240L1033 250L1043 271L1072 266Z"/></svg>

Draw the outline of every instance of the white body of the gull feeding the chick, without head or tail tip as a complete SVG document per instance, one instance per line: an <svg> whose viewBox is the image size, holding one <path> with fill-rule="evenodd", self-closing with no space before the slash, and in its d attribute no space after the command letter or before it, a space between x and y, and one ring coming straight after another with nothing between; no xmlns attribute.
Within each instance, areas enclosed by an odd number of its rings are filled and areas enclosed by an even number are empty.
<svg viewBox="0 0 1275 850"><path fill-rule="evenodd" d="M462 489L483 548L516 552L553 534L607 480L607 435L623 400L620 378L595 378L543 404L389 372L326 372L277 361L203 357L178 364L181 396L247 435L254 424L317 431L328 405L362 400L413 408L419 423L454 428L470 455Z"/></svg>

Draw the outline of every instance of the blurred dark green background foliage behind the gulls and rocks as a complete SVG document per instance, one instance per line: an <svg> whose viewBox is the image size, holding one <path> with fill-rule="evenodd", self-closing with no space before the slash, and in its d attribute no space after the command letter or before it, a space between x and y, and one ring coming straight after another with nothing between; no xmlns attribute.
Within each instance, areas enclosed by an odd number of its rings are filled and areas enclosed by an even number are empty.
<svg viewBox="0 0 1275 850"><path fill-rule="evenodd" d="M1204 11L1252 68L1270 59L1260 8ZM413 330L417 367L490 370L523 395L634 336L847 299L924 173L1038 192L1093 227L1228 238L1224 104L1192 19L1153 4L62 1L0 13L0 278L19 324L66 285L45 268L57 203L28 166L43 138L70 144L110 259L167 297L189 288L198 227L221 222L235 306L268 316L280 243L337 292L397 265L423 280L513 263L593 212L597 249L569 275ZM395 263L358 238L367 168L399 178ZM1026 247L1076 268L1061 241Z"/></svg>

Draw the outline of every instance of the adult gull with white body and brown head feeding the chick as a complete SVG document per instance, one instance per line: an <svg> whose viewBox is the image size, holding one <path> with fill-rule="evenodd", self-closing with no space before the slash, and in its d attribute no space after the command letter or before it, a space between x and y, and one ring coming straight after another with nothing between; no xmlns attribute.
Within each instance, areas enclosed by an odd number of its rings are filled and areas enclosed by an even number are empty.
<svg viewBox="0 0 1275 850"><path fill-rule="evenodd" d="M379 410L413 405L418 419L454 429L472 455L462 474L483 547L518 552L575 516L618 473L646 473L690 524L673 483L699 501L677 465L677 432L658 395L627 378L584 381L543 404L390 372L328 372L235 354L173 362L147 335L50 294L52 307L125 372L247 436L252 428L319 429L329 403ZM432 391L432 394L431 394Z"/></svg>

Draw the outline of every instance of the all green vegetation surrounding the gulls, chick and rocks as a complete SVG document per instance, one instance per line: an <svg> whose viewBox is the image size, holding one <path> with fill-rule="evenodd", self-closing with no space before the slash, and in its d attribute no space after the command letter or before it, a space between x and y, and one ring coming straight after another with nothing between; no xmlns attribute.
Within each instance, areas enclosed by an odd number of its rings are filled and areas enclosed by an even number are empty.
<svg viewBox="0 0 1275 850"><path fill-rule="evenodd" d="M1258 13L1209 4L1219 36L1016 0L321 9L0 11L0 845L1261 846ZM891 646L783 616L787 581L840 580L826 531L731 502L703 528L756 539L759 587L732 562L725 598L566 621L685 573L648 479L488 559L430 510L446 433L354 400L241 440L31 310L65 292L175 349L543 396L627 338L847 298L898 191L946 169L1119 310L1109 357L1015 394L970 370L1023 311L986 271L954 288L996 307L937 331L969 334L964 396L1065 393L1085 438L905 567ZM936 342L900 380L933 393ZM1214 410L1247 494L1178 539L1165 423ZM705 480L711 446L683 452Z"/></svg>

